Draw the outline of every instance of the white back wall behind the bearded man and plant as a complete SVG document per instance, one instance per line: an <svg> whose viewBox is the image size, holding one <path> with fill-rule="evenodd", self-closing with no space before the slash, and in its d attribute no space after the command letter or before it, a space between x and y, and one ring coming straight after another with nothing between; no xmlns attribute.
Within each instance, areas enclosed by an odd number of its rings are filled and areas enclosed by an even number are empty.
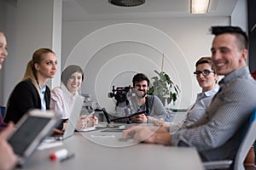
<svg viewBox="0 0 256 170"><path fill-rule="evenodd" d="M81 93L113 111L113 99L108 99L112 85L132 85L137 72L155 76L164 53L164 71L182 92L174 107L187 108L200 92L195 61L211 55L209 29L229 24L230 17L64 22L62 64L82 66Z"/></svg>

